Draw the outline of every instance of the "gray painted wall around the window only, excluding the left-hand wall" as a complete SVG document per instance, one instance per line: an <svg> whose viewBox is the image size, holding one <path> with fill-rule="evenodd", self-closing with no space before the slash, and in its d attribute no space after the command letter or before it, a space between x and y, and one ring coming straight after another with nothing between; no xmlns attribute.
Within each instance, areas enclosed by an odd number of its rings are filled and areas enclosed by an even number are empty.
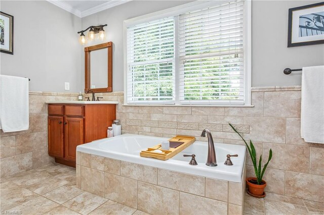
<svg viewBox="0 0 324 215"><path fill-rule="evenodd" d="M324 44L287 47L288 9L317 2L320 1L252 2L252 86L301 85L300 72L288 76L284 69L324 64ZM114 91L123 91L123 21L185 3L188 2L133 1L82 19L83 28L108 24L106 39L114 43Z"/></svg>

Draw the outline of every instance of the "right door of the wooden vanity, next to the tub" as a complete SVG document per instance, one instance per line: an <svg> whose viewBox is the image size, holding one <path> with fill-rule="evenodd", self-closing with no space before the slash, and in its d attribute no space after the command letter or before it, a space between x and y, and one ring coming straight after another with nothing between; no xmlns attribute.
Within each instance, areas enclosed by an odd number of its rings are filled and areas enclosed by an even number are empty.
<svg viewBox="0 0 324 215"><path fill-rule="evenodd" d="M83 118L64 117L65 159L75 161L76 146L84 143Z"/></svg>

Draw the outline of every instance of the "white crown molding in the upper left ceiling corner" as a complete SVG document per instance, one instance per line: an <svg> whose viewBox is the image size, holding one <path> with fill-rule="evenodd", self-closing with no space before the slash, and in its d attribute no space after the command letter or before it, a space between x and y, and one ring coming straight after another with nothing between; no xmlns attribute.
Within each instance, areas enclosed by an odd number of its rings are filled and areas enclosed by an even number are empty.
<svg viewBox="0 0 324 215"><path fill-rule="evenodd" d="M72 8L70 5L64 3L62 0L46 0L47 2L62 8L63 10L70 12L71 14L74 14L75 16L79 18L83 18L95 13L98 13L100 11L107 10L108 8L113 8L121 4L128 3L132 0L110 0L109 2L103 3L101 5L95 6L93 8L89 8L88 10L85 11L79 11L77 9Z"/></svg>

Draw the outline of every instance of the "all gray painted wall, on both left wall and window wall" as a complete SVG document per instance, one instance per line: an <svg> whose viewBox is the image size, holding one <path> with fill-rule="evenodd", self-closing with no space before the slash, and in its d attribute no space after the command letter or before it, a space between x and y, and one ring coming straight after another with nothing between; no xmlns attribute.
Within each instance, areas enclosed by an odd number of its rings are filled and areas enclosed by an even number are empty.
<svg viewBox="0 0 324 215"><path fill-rule="evenodd" d="M108 24L113 90L123 91L123 21L188 2L132 1L80 19L46 1L1 1L1 11L15 22L14 55L1 53L1 74L29 77L32 91L83 91L84 47L76 32ZM282 71L324 64L324 44L287 48L288 9L317 2L253 1L252 86L300 85L300 72L288 76ZM64 90L64 82L70 82L70 91Z"/></svg>

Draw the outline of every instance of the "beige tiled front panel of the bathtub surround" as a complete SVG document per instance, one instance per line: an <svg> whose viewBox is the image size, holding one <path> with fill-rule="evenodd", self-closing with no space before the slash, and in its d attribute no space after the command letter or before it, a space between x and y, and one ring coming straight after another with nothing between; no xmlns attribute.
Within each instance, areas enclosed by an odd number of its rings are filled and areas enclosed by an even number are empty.
<svg viewBox="0 0 324 215"><path fill-rule="evenodd" d="M245 176L243 176L245 177ZM77 186L150 214L242 214L245 183L77 151Z"/></svg>

